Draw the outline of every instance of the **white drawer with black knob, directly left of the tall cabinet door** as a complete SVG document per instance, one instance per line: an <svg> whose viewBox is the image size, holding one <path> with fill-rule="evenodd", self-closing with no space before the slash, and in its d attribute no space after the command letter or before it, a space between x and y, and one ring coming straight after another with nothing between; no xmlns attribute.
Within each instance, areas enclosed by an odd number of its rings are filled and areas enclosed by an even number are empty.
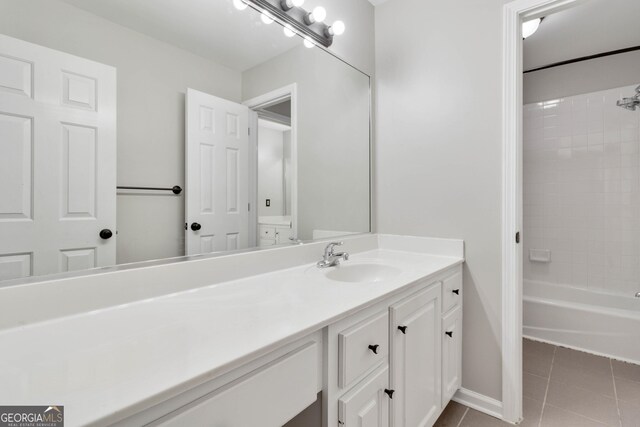
<svg viewBox="0 0 640 427"><path fill-rule="evenodd" d="M384 311L338 335L338 385L353 380L378 365L389 354L389 314Z"/></svg>

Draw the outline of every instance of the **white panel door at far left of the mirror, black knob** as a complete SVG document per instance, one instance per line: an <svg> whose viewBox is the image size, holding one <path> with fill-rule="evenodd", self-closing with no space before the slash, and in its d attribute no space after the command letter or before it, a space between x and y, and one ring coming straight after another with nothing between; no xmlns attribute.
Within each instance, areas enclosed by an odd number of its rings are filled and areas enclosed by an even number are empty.
<svg viewBox="0 0 640 427"><path fill-rule="evenodd" d="M0 182L0 280L115 264L116 70L0 35Z"/></svg>

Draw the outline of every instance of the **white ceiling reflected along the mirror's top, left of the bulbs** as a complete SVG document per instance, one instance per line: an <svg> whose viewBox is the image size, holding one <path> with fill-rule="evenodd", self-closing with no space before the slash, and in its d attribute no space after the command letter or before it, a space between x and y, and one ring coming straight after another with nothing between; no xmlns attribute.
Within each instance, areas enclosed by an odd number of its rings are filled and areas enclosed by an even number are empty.
<svg viewBox="0 0 640 427"><path fill-rule="evenodd" d="M285 37L277 23L262 23L253 9L238 11L231 0L62 1L236 71L301 43Z"/></svg>

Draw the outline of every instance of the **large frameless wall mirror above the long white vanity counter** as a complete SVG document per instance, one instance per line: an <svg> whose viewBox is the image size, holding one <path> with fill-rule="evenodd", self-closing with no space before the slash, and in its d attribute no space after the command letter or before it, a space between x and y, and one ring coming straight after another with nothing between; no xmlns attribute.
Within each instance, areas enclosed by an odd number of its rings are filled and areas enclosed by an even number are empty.
<svg viewBox="0 0 640 427"><path fill-rule="evenodd" d="M370 231L366 74L232 0L0 6L0 286Z"/></svg>

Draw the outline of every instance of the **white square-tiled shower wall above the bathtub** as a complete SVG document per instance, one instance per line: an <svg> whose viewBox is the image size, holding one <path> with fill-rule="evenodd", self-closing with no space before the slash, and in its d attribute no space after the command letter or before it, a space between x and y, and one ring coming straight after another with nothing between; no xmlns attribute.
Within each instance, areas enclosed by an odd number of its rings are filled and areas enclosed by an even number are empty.
<svg viewBox="0 0 640 427"><path fill-rule="evenodd" d="M616 106L636 86L525 105L525 280L640 291L640 111Z"/></svg>

